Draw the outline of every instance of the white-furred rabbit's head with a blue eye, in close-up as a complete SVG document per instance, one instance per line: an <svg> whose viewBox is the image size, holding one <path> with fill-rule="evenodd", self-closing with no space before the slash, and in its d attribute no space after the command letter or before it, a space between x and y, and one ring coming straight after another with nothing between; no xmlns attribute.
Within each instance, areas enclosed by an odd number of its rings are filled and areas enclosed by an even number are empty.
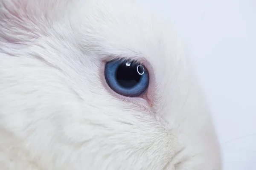
<svg viewBox="0 0 256 170"><path fill-rule="evenodd" d="M0 0L0 170L221 170L166 23L132 0Z"/></svg>

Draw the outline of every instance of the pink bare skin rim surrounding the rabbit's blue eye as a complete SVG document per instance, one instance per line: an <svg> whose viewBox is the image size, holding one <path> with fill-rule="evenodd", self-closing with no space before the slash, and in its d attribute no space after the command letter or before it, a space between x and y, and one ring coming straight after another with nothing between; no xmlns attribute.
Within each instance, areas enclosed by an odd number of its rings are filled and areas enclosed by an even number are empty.
<svg viewBox="0 0 256 170"><path fill-rule="evenodd" d="M151 65L145 61L143 59L142 64L145 68L147 68L148 70L148 74L149 74L149 85L148 85L148 89L145 91L144 94L142 94L141 96L138 97L128 97L128 96L122 96L118 93L116 93L115 91L113 91L109 86L108 83L105 80L105 64L106 62L103 61L101 66L100 66L100 79L102 81L102 84L105 86L105 88L113 95L115 95L116 97L128 101L128 102L134 102L140 105L145 106L145 108L148 108L149 110L153 111L154 110L154 89L155 89L155 82L154 82L154 72L153 69L151 67Z"/></svg>

